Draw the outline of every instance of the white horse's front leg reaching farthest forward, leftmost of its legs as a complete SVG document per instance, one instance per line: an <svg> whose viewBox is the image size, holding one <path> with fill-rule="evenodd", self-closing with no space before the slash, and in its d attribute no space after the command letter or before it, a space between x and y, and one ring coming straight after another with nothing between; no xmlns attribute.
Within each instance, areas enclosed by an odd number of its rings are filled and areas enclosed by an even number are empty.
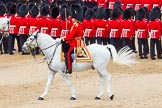
<svg viewBox="0 0 162 108"><path fill-rule="evenodd" d="M51 70L49 71L49 73L48 73L48 80L47 80L47 83L46 83L46 88L45 88L44 92L42 93L42 95L38 97L38 100L43 100L44 96L47 95L49 87L52 84L52 79L55 76L55 74L56 74L56 72L53 72Z"/></svg>

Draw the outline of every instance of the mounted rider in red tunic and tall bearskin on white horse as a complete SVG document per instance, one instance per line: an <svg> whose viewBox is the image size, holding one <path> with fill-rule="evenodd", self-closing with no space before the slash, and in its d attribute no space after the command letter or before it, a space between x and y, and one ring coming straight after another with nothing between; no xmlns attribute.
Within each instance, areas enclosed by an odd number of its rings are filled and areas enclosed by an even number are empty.
<svg viewBox="0 0 162 108"><path fill-rule="evenodd" d="M73 26L70 29L70 33L62 37L62 42L67 42L69 44L69 48L65 51L65 64L67 69L65 69L65 73L72 73L72 58L71 54L74 52L74 47L77 47L80 44L81 38L83 37L83 8L79 4L72 4L70 7L71 17L73 21ZM79 43L78 43L79 42Z"/></svg>

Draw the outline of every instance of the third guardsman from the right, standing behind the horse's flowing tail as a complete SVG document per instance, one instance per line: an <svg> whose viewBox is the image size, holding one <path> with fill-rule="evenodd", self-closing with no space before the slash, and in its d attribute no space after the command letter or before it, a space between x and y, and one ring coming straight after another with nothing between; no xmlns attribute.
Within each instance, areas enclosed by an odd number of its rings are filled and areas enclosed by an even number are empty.
<svg viewBox="0 0 162 108"><path fill-rule="evenodd" d="M130 39L134 35L134 22L131 20L131 8L125 9L123 13L123 21L121 22L121 43L122 47L130 45Z"/></svg>

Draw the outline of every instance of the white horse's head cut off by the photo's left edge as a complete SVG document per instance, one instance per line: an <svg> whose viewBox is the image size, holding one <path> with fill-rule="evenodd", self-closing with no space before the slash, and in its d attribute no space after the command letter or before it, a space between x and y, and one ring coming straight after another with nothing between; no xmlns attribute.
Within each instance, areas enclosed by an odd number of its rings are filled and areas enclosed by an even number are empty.
<svg viewBox="0 0 162 108"><path fill-rule="evenodd" d="M8 18L0 18L0 34L2 34L3 37L9 36L9 25L10 21Z"/></svg>

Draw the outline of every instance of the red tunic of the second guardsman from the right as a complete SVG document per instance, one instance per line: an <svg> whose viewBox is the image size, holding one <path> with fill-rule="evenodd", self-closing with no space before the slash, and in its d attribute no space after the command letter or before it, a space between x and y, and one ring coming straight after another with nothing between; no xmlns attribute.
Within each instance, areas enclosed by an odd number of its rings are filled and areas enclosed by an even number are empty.
<svg viewBox="0 0 162 108"><path fill-rule="evenodd" d="M135 23L135 30L137 31L138 38L147 38L148 37L148 21L137 20Z"/></svg>

